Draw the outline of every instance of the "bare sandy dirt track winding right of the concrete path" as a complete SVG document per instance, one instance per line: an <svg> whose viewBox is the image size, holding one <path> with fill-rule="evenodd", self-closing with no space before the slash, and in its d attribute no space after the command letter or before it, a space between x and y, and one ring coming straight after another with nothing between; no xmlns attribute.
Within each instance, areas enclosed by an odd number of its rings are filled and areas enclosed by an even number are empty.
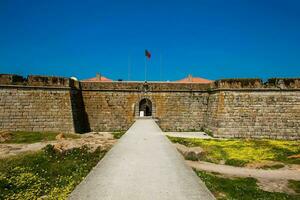
<svg viewBox="0 0 300 200"><path fill-rule="evenodd" d="M280 169L259 169L262 166L280 164L277 162L266 161L263 163L252 163L246 167L234 167L224 164L215 164L201 161L203 150L200 147L186 147L174 144L184 158L193 158L196 161L186 160L190 167L208 172L219 174L218 176L234 177L253 177L257 179L258 186L268 192L283 192L295 194L295 191L288 187L288 180L300 181L300 165L285 165Z"/></svg>

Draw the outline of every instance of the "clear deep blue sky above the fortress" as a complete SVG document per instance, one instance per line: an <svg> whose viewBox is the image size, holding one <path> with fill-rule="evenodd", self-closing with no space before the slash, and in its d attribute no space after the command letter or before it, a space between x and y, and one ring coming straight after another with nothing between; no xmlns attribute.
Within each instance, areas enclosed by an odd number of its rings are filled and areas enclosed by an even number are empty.
<svg viewBox="0 0 300 200"><path fill-rule="evenodd" d="M0 73L300 77L299 0L0 0Z"/></svg>

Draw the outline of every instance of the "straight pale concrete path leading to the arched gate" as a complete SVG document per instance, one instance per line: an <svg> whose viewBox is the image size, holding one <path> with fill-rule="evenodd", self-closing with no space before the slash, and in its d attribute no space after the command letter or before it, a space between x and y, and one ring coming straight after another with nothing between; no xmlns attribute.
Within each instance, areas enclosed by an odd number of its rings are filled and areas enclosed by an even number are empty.
<svg viewBox="0 0 300 200"><path fill-rule="evenodd" d="M70 199L214 199L152 119L139 119Z"/></svg>

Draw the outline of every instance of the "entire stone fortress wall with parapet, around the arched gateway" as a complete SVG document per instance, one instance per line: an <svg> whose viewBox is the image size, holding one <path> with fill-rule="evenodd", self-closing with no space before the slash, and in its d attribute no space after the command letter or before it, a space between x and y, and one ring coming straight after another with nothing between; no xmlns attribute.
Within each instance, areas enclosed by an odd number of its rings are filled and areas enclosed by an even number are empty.
<svg viewBox="0 0 300 200"><path fill-rule="evenodd" d="M152 102L152 116L164 131L300 139L300 79L93 83L3 74L0 130L127 130L144 98Z"/></svg>

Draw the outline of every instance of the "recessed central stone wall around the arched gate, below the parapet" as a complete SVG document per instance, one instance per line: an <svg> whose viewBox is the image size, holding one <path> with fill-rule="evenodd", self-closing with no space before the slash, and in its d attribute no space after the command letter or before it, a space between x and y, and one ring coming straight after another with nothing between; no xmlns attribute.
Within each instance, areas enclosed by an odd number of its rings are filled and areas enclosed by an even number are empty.
<svg viewBox="0 0 300 200"><path fill-rule="evenodd" d="M143 98L152 102L152 116L163 130L201 130L207 96L199 92L83 91L89 124L95 131L127 130L138 117L138 104Z"/></svg>

